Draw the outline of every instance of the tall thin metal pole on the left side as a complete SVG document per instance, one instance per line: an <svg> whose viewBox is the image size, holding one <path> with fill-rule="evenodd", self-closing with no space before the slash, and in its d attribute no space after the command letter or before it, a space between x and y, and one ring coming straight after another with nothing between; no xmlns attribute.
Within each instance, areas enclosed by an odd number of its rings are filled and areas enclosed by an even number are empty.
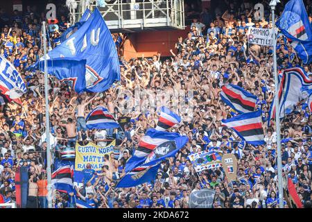
<svg viewBox="0 0 312 222"><path fill-rule="evenodd" d="M51 185L51 144L50 144L50 119L49 119L49 92L48 92L48 64L46 61L46 22L42 22L42 35L44 40L44 97L46 101L46 175L48 194L52 194ZM51 197L48 196L48 208L52 208Z"/></svg>

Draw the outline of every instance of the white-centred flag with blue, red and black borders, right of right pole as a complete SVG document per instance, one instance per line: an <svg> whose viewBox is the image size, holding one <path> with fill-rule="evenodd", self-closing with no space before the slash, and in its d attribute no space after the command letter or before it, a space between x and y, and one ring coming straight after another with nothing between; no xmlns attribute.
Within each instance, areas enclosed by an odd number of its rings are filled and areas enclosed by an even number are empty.
<svg viewBox="0 0 312 222"><path fill-rule="evenodd" d="M295 105L304 99L304 94L312 89L312 80L304 74L301 68L285 69L279 84L279 117L293 112ZM275 118L275 105L272 104L269 112L270 121Z"/></svg>

